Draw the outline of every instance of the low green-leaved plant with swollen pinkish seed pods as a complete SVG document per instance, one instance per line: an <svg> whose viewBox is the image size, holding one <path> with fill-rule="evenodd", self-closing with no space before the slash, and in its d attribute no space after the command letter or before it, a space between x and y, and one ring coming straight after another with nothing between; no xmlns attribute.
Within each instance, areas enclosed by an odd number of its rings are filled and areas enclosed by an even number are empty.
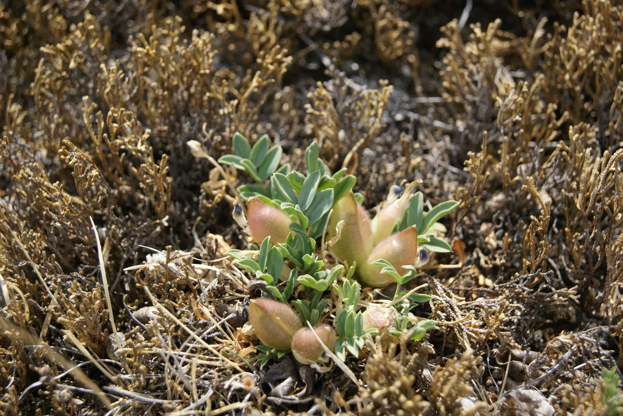
<svg viewBox="0 0 623 416"><path fill-rule="evenodd" d="M237 189L246 218L241 206L234 207L251 249L227 254L265 283L264 298L249 306L250 323L264 344L258 347L262 365L288 349L303 364L326 361L327 350L344 360L346 352L358 356L368 335L380 334L389 343L403 334L421 339L435 328L436 321L412 314L430 296L402 285L428 262L429 251L452 251L438 221L458 202L442 202L425 212L422 193L411 192L414 184L392 186L370 220L361 206L363 196L352 191L356 177L346 169L331 174L316 142L305 150L306 174L289 164L279 166L282 148L270 147L267 136L251 147L236 133L232 144L235 154L222 156L219 163L245 171L255 183ZM325 261L327 248L335 262ZM390 307L361 311L361 283L382 287L394 282Z"/></svg>

